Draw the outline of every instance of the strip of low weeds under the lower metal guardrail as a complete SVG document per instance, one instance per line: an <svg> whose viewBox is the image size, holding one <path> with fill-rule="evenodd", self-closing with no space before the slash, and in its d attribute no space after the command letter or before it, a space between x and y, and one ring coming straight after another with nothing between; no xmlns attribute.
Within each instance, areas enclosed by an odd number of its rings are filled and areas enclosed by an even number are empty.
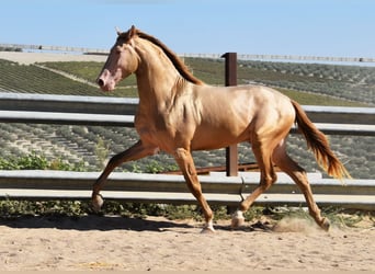
<svg viewBox="0 0 375 274"><path fill-rule="evenodd" d="M229 220L230 214L225 206L213 206L214 221ZM0 218L14 219L27 216L79 218L93 215L90 201L12 201L0 199ZM375 227L373 212L348 212L340 208L325 208L323 216L328 217L334 227L356 227L366 220L367 227ZM139 204L106 201L101 213L127 218L146 218L147 216L162 216L168 219L194 219L203 221L202 212L196 205ZM250 229L272 229L282 219L302 219L314 224L308 213L302 207L251 207L245 215L251 222Z"/></svg>

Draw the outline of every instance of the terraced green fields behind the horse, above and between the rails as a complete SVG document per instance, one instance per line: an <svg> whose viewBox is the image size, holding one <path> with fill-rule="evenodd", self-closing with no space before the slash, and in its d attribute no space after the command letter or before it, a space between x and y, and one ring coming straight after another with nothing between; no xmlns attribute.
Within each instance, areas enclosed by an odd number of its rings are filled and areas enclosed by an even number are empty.
<svg viewBox="0 0 375 274"><path fill-rule="evenodd" d="M194 75L207 83L223 84L221 60L185 58ZM73 95L136 95L135 79L123 82L115 93L102 93L92 87L101 62L39 62L19 65L0 60L0 92L27 92ZM64 73L58 73L58 71ZM71 76L71 77L69 77ZM300 64L241 61L239 84L259 82L281 87L302 104L375 105L375 68ZM76 80L75 80L76 79ZM78 80L79 81L78 81ZM84 83L87 82L87 83ZM300 92L296 90L304 90ZM373 137L330 136L331 145L354 178L373 178L375 151ZM137 140L133 128L0 124L0 158L35 151L48 159L82 163L87 170L101 170L105 160ZM319 168L300 136L289 137L288 150L308 171ZM194 152L197 167L225 164L225 151ZM251 162L248 145L240 145L240 162ZM161 164L162 163L162 164ZM175 169L174 160L160 153L120 170L157 172Z"/></svg>

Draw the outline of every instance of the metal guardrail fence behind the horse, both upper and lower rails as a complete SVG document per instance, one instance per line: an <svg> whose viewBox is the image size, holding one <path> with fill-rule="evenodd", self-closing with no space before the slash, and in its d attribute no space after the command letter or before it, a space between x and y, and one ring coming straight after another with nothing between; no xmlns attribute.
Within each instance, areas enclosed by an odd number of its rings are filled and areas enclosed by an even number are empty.
<svg viewBox="0 0 375 274"><path fill-rule="evenodd" d="M88 98L24 93L0 93L1 123L134 126L137 99ZM326 134L375 136L375 109L304 106L308 116ZM294 129L292 130L294 132ZM0 197L90 198L98 172L0 171ZM375 209L375 180L322 179L309 174L315 198L320 205ZM259 173L238 176L200 176L212 204L237 205L259 181ZM166 174L112 173L105 198L152 203L195 203L183 176ZM304 205L304 197L284 174L263 194L258 204Z"/></svg>

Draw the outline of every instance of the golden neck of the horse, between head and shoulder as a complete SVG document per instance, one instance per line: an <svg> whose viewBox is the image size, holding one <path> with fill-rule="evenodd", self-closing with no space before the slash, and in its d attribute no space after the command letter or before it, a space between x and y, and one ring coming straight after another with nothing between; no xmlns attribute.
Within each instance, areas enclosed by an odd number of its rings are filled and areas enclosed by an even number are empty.
<svg viewBox="0 0 375 274"><path fill-rule="evenodd" d="M136 71L139 105L152 107L173 98L173 87L181 76L171 60L147 41L139 43L136 50L140 57Z"/></svg>

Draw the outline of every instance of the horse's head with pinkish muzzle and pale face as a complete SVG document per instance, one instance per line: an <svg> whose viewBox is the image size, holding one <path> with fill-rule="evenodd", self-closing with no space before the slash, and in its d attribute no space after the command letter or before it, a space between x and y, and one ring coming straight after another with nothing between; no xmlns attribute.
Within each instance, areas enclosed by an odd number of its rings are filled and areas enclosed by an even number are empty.
<svg viewBox="0 0 375 274"><path fill-rule="evenodd" d="M139 56L135 50L134 37L138 30L133 25L127 32L117 30L116 43L100 72L96 83L103 91L114 90L116 84L135 72L138 68Z"/></svg>

